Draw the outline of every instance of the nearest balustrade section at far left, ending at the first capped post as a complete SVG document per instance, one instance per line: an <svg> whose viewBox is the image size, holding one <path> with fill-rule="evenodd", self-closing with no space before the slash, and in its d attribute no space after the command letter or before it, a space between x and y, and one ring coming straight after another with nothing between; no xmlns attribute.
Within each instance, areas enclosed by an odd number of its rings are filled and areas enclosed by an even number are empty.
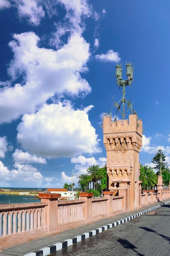
<svg viewBox="0 0 170 256"><path fill-rule="evenodd" d="M0 249L46 234L47 206L42 202L0 205Z"/></svg>

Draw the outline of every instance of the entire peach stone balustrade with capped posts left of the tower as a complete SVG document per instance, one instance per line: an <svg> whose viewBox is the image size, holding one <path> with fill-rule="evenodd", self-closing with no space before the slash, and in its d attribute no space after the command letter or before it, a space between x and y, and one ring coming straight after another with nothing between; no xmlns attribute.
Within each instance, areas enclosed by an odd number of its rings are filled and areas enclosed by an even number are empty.
<svg viewBox="0 0 170 256"><path fill-rule="evenodd" d="M58 200L60 194L40 194L41 202L0 205L0 249L124 211L121 204L123 197L110 194L92 199L92 193L81 193L80 196L79 200Z"/></svg>

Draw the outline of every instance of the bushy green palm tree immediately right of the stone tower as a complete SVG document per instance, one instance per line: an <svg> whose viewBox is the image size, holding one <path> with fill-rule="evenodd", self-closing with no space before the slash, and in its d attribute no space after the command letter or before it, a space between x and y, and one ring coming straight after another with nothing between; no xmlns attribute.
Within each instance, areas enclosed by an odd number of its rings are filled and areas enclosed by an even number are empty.
<svg viewBox="0 0 170 256"><path fill-rule="evenodd" d="M139 180L142 182L143 189L151 189L155 184L157 184L157 175L154 173L153 169L148 165L141 165Z"/></svg>

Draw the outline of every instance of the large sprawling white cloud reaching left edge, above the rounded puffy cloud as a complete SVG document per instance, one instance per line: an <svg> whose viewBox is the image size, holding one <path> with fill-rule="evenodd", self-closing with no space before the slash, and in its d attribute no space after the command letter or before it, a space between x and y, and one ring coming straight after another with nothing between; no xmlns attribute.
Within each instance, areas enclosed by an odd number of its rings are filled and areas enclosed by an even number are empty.
<svg viewBox="0 0 170 256"><path fill-rule="evenodd" d="M18 74L25 73L26 83L0 91L1 123L34 112L36 106L55 93L86 95L91 91L88 82L80 76L89 57L89 45L84 38L74 34L57 51L39 48L39 40L34 33L28 32L15 34L14 40L9 43L14 52L9 75L16 79Z"/></svg>

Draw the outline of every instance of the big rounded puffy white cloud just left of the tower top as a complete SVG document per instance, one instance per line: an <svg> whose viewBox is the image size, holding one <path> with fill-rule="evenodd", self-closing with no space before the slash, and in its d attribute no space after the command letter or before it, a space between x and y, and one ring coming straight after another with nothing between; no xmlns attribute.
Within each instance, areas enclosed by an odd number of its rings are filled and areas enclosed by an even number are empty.
<svg viewBox="0 0 170 256"><path fill-rule="evenodd" d="M41 157L73 157L101 151L86 109L74 110L68 101L44 104L36 114L25 114L17 129L22 148Z"/></svg>

